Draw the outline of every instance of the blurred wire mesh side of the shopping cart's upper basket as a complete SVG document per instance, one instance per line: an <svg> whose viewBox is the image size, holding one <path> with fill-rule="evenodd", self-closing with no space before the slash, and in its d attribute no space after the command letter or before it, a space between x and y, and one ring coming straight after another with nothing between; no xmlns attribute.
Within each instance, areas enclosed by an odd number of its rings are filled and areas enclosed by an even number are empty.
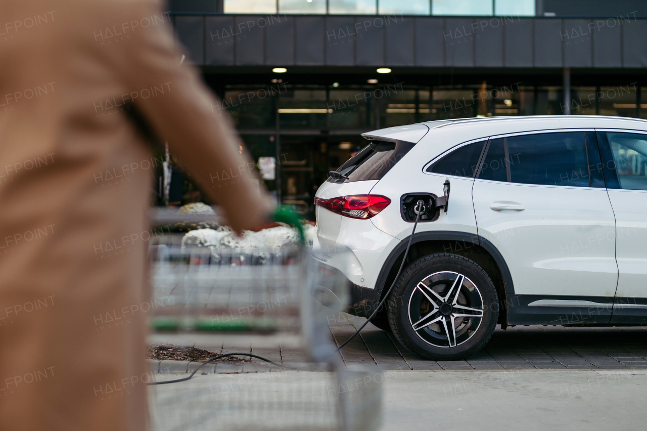
<svg viewBox="0 0 647 431"><path fill-rule="evenodd" d="M298 331L303 249L151 247L156 330Z"/></svg>

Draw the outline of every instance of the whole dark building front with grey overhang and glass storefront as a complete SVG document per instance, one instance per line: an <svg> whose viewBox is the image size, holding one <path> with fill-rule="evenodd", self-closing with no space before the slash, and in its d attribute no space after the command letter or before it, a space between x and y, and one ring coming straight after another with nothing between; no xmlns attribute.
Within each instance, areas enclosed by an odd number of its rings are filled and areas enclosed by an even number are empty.
<svg viewBox="0 0 647 431"><path fill-rule="evenodd" d="M171 17L220 98L214 116L232 120L278 203L308 217L367 131L476 116L647 119L641 11L601 21L595 10L533 16L558 5L549 0L193 1L217 5Z"/></svg>

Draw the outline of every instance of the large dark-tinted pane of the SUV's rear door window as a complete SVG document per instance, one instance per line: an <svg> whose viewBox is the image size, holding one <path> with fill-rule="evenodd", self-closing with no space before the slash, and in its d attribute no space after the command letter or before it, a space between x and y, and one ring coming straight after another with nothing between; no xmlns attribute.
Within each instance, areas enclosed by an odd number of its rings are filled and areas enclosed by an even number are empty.
<svg viewBox="0 0 647 431"><path fill-rule="evenodd" d="M505 138L510 181L547 186L589 186L584 132Z"/></svg>

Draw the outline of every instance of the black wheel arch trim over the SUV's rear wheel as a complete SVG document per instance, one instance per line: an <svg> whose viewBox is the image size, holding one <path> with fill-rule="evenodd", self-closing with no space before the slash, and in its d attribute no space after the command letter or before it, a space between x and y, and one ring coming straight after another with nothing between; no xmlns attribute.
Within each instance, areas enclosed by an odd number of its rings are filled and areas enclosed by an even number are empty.
<svg viewBox="0 0 647 431"><path fill-rule="evenodd" d="M408 236L400 241L384 261L382 269L380 269L380 274L375 283L375 289L380 291L380 300L384 299L384 294L386 294L384 287L388 288L395 279L410 238ZM512 275L503 256L501 256L501 252L490 241L476 234L444 230L417 232L411 240L407 263L411 263L422 256L438 252L465 256L476 262L487 272L492 282L494 282L494 287L496 287L499 296L501 313L499 313L498 323L507 326L509 315L507 298L514 295L514 285L512 284Z"/></svg>

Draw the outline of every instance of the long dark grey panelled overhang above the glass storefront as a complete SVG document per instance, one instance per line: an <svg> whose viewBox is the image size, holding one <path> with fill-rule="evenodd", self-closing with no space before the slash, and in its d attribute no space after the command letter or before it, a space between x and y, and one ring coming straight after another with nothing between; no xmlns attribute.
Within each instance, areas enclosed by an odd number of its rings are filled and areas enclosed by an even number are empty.
<svg viewBox="0 0 647 431"><path fill-rule="evenodd" d="M201 66L647 67L647 19L175 14Z"/></svg>

